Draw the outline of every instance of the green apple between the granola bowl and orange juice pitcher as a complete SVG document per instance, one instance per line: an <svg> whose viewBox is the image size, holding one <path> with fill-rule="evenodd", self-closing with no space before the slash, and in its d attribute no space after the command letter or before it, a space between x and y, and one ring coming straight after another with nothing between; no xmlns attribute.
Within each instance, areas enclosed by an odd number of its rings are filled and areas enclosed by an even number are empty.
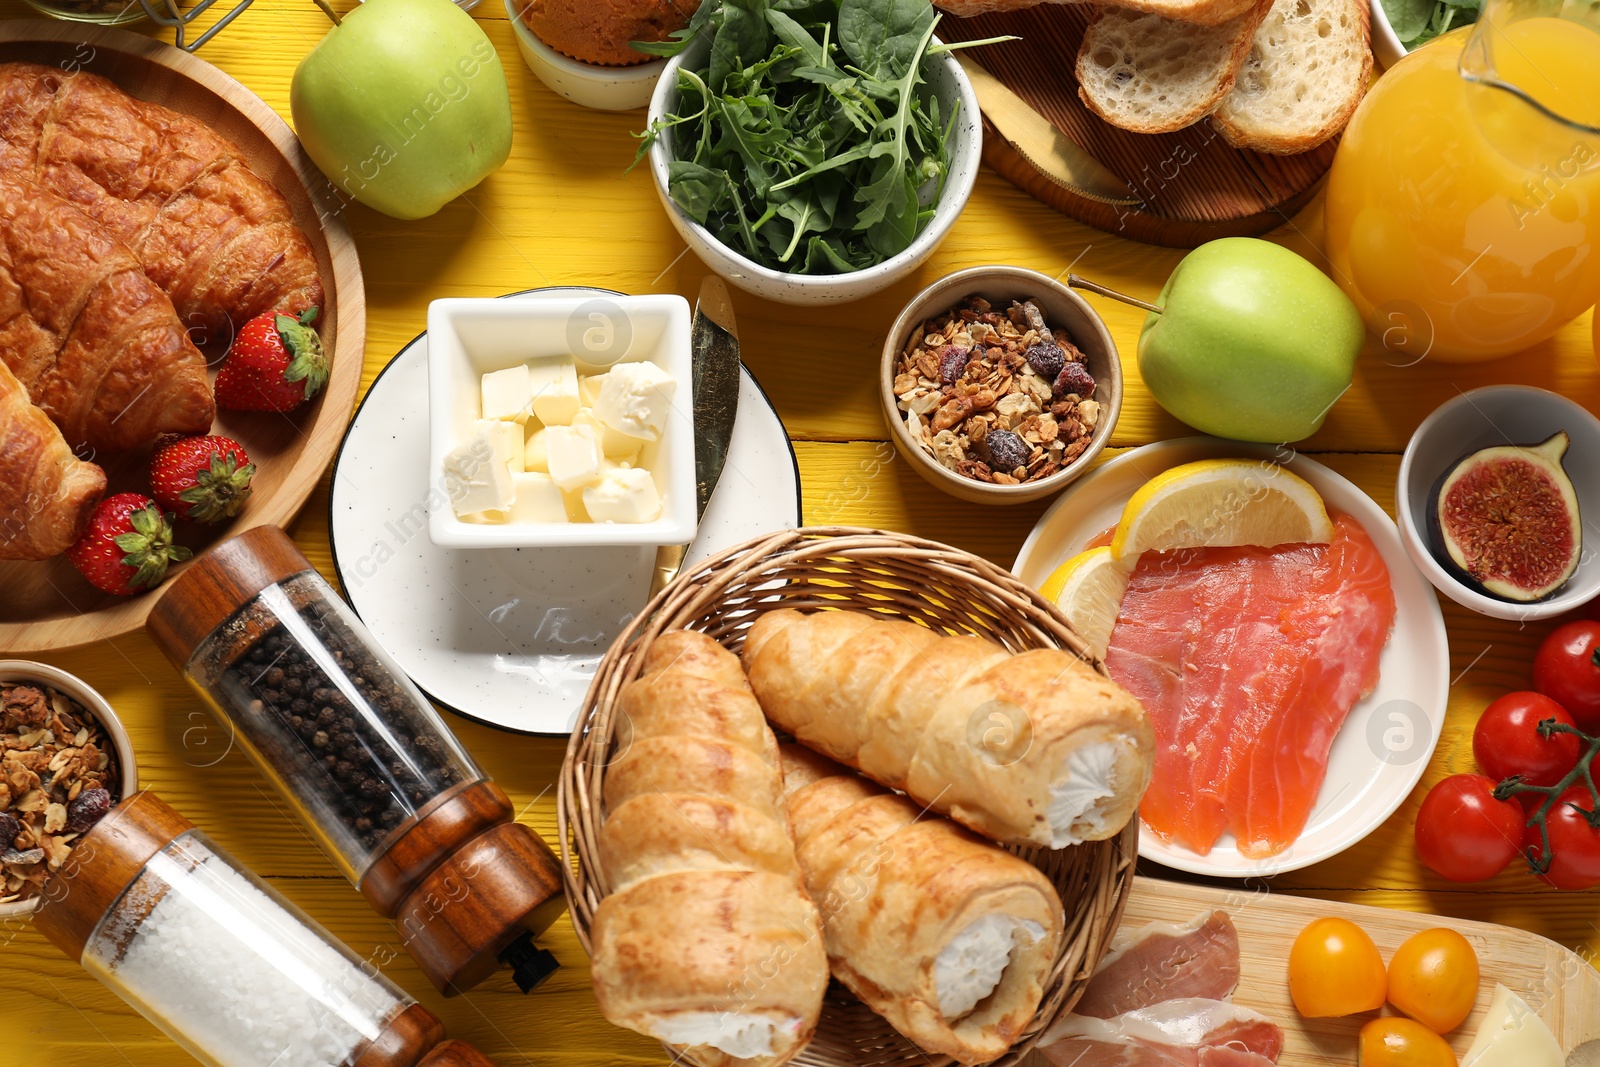
<svg viewBox="0 0 1600 1067"><path fill-rule="evenodd" d="M1226 237L1166 278L1139 333L1157 403L1206 434L1298 442L1350 387L1362 315L1328 275L1286 248Z"/></svg>

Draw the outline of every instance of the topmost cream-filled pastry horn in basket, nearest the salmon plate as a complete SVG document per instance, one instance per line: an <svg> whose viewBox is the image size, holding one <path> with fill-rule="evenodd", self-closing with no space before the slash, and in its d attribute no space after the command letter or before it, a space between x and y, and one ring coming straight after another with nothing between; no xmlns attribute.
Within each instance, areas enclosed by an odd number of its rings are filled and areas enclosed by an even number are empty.
<svg viewBox="0 0 1600 1067"><path fill-rule="evenodd" d="M784 608L750 627L744 665L773 725L998 841L1115 837L1150 784L1144 709L1061 649Z"/></svg>

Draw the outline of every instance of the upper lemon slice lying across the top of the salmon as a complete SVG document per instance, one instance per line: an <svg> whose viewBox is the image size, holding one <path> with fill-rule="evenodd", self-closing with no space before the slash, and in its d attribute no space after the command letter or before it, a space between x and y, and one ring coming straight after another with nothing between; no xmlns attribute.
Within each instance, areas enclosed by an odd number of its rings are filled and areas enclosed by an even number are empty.
<svg viewBox="0 0 1600 1067"><path fill-rule="evenodd" d="M1326 544L1333 523L1306 478L1259 459L1202 459L1155 475L1133 494L1110 542L1141 552L1254 544Z"/></svg>

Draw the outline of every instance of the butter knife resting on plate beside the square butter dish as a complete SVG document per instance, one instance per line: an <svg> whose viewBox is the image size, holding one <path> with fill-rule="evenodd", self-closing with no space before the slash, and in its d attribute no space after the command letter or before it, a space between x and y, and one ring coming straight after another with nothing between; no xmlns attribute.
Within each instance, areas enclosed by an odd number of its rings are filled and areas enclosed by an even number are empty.
<svg viewBox="0 0 1600 1067"><path fill-rule="evenodd" d="M728 286L717 275L701 282L690 326L690 352L694 357L694 381L690 394L694 405L694 517L706 517L706 504L717 488L722 467L733 440L733 421L739 414L739 328L733 318ZM650 582L654 598L683 566L686 544L664 544L656 549L656 574Z"/></svg>

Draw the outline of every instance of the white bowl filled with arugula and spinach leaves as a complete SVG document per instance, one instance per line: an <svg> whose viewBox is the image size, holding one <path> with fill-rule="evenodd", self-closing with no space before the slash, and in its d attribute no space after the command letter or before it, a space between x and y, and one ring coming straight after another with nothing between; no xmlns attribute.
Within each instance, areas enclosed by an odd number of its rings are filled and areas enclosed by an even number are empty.
<svg viewBox="0 0 1600 1067"><path fill-rule="evenodd" d="M978 98L926 0L706 0L650 101L656 192L733 285L842 304L915 270L966 206ZM757 56L742 69L723 56Z"/></svg>

